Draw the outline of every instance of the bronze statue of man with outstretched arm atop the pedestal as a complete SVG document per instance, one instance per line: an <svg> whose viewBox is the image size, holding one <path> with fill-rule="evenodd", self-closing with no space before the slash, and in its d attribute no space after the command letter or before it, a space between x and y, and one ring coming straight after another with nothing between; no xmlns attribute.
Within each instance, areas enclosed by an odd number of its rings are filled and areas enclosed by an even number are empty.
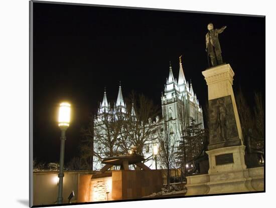
<svg viewBox="0 0 276 208"><path fill-rule="evenodd" d="M221 29L214 29L212 23L209 23L208 33L206 34L206 52L211 58L212 66L217 66L222 64L221 49L218 41L218 34L222 33L226 26L223 26Z"/></svg>

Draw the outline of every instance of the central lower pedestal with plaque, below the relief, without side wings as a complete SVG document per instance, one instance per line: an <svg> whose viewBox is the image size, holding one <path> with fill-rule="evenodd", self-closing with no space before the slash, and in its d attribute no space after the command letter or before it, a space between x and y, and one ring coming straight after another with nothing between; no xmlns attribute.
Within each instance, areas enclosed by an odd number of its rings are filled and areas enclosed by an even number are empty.
<svg viewBox="0 0 276 208"><path fill-rule="evenodd" d="M245 146L209 150L208 194L254 191L245 165Z"/></svg>

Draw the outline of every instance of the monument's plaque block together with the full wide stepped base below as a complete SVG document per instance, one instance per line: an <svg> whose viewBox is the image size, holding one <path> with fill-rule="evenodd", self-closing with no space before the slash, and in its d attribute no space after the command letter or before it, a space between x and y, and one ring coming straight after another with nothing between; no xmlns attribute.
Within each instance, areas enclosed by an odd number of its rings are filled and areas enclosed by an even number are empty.
<svg viewBox="0 0 276 208"><path fill-rule="evenodd" d="M246 168L245 146L212 149L209 156L208 174L187 177L187 194L202 195L262 191L263 167Z"/></svg>

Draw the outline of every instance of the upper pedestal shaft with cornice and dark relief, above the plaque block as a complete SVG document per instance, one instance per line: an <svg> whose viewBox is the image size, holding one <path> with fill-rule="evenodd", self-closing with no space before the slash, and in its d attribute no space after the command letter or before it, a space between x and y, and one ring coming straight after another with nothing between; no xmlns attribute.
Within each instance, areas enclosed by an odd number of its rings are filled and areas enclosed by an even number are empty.
<svg viewBox="0 0 276 208"><path fill-rule="evenodd" d="M208 150L243 145L242 132L233 93L234 72L229 64L202 72L208 85Z"/></svg>

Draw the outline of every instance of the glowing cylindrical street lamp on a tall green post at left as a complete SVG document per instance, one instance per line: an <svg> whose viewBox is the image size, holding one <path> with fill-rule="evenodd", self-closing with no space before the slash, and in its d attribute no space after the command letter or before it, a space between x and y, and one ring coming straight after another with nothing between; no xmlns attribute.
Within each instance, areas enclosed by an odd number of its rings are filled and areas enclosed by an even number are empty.
<svg viewBox="0 0 276 208"><path fill-rule="evenodd" d="M62 203L62 185L63 185L63 167L64 167L64 148L65 148L65 132L70 124L70 104L69 103L61 103L59 106L59 116L58 116L58 125L61 130L61 137L60 137L60 160L59 160L59 187L58 187L58 199L57 203Z"/></svg>

